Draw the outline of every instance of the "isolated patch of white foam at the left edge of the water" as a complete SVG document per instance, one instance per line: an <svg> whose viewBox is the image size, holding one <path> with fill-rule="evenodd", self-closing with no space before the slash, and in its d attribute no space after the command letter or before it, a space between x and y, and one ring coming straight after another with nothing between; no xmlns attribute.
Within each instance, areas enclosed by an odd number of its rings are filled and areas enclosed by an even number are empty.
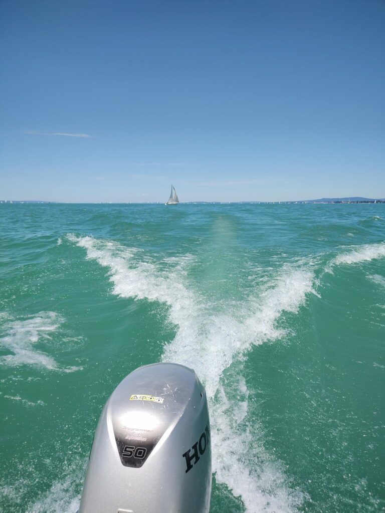
<svg viewBox="0 0 385 513"><path fill-rule="evenodd" d="M39 312L30 315L23 321L9 320L3 325L6 336L0 339L0 346L9 349L13 354L0 357L0 364L17 367L20 365L33 365L45 367L50 370L71 372L79 367L60 369L54 358L36 349L37 342L48 342L52 333L64 322L64 319L55 312Z"/></svg>

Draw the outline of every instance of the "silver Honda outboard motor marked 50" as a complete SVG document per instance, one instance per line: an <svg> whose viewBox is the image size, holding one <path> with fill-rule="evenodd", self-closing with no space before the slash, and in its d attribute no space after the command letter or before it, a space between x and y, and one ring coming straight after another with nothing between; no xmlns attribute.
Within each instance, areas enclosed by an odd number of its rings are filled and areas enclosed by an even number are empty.
<svg viewBox="0 0 385 513"><path fill-rule="evenodd" d="M211 437L194 370L139 367L107 401L78 513L208 513Z"/></svg>

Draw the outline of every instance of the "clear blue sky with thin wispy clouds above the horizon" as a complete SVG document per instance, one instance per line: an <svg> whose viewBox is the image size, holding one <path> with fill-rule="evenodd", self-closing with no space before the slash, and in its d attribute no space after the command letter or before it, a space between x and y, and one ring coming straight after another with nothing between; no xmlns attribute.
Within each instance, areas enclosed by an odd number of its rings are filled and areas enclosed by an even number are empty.
<svg viewBox="0 0 385 513"><path fill-rule="evenodd" d="M0 2L0 199L385 197L385 2Z"/></svg>

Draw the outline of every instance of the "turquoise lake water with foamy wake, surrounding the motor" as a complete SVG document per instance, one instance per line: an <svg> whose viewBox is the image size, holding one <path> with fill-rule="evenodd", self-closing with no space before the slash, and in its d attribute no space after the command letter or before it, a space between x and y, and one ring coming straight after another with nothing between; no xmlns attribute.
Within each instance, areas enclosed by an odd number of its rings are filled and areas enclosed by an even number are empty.
<svg viewBox="0 0 385 513"><path fill-rule="evenodd" d="M212 513L385 510L385 205L0 205L0 509L76 510L129 372L193 367Z"/></svg>

